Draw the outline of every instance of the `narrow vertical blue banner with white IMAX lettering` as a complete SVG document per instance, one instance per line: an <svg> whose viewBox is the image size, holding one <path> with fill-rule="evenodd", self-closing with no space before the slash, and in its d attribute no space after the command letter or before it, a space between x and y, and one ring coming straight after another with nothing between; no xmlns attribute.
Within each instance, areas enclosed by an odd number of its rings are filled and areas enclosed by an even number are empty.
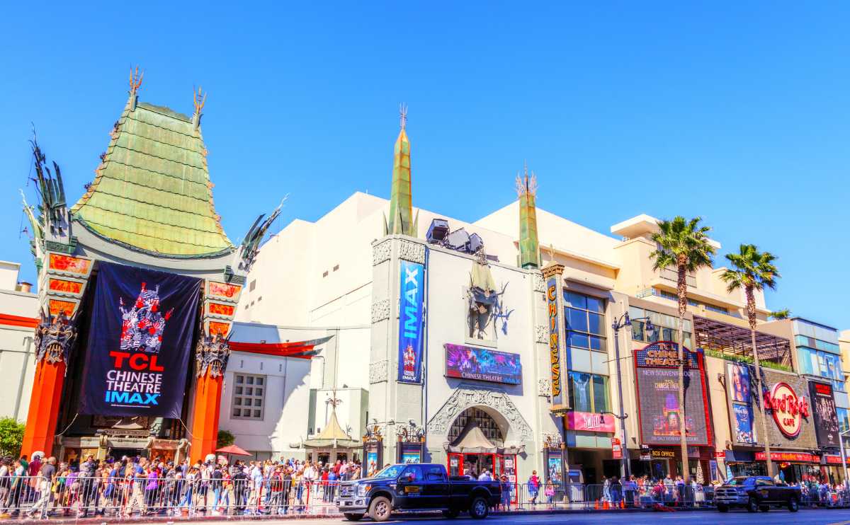
<svg viewBox="0 0 850 525"><path fill-rule="evenodd" d="M399 382L422 381L422 296L425 267L401 262L399 287Z"/></svg>

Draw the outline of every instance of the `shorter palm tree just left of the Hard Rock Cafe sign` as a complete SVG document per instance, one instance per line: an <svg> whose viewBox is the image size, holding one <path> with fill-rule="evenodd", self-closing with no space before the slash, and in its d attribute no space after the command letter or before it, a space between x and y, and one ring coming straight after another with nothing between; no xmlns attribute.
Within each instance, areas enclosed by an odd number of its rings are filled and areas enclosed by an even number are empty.
<svg viewBox="0 0 850 525"><path fill-rule="evenodd" d="M756 381L759 386L757 396L758 409L762 414L762 436L764 436L764 457L768 461L768 476L773 476L774 462L770 460L770 440L768 439L768 423L764 419L764 402L762 401L762 371L758 363L758 347L756 346L756 293L764 290L765 286L774 290L779 270L774 266L776 256L769 251L758 251L756 245L741 245L739 253L728 253L726 258L733 269L723 272L721 279L728 284L729 293L744 289L746 296L746 316L750 321L752 338L752 360L756 371ZM790 312L789 312L790 313Z"/></svg>

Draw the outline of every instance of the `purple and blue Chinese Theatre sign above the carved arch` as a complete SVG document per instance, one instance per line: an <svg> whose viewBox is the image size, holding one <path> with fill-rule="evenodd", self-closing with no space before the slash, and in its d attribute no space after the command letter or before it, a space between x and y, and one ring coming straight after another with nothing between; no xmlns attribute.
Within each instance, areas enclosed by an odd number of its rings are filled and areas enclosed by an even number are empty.
<svg viewBox="0 0 850 525"><path fill-rule="evenodd" d="M523 366L518 353L446 344L445 376L520 385Z"/></svg>

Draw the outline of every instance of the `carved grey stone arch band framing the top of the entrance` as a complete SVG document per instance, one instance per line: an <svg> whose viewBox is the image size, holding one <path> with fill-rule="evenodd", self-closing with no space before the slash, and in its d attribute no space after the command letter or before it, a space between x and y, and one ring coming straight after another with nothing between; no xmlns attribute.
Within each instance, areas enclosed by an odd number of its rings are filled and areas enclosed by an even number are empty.
<svg viewBox="0 0 850 525"><path fill-rule="evenodd" d="M456 388L437 414L431 418L431 421L428 421L428 432L447 434L452 421L455 421L463 410L473 406L486 406L495 409L507 419L511 431L520 441L532 439L531 426L528 421L525 421L523 415L519 413L517 405L513 404L513 401L505 392L496 392L471 385Z"/></svg>

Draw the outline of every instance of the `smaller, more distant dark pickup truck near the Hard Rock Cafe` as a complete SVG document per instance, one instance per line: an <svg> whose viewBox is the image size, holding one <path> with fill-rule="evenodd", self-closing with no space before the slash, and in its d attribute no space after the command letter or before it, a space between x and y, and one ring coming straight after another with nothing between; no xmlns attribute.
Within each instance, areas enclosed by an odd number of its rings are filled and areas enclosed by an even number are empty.
<svg viewBox="0 0 850 525"><path fill-rule="evenodd" d="M714 491L717 510L726 512L732 507L745 507L747 511L767 512L770 507L788 507L791 512L800 509L799 487L774 483L767 476L733 477Z"/></svg>

